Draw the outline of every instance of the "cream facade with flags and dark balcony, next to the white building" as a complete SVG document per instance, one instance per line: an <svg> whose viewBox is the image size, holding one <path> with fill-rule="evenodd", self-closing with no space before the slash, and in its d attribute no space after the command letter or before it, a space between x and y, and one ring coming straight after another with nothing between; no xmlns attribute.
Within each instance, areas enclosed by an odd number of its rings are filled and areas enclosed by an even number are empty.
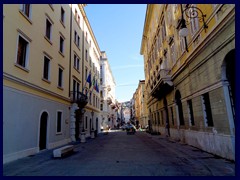
<svg viewBox="0 0 240 180"><path fill-rule="evenodd" d="M100 55L101 51L85 5L71 4L71 139L85 142L100 132ZM76 109L77 108L77 109Z"/></svg>

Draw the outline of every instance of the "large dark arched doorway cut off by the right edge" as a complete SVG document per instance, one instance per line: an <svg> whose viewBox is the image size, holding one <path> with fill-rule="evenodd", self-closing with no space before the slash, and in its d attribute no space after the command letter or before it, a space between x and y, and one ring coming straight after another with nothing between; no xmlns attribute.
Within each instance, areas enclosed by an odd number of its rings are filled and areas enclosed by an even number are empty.
<svg viewBox="0 0 240 180"><path fill-rule="evenodd" d="M228 82L227 91L230 99L230 108L232 111L233 120L235 123L235 105L236 105L236 92L235 92L235 79L236 79L236 63L235 63L235 49L231 50L224 58L222 65L222 79Z"/></svg>

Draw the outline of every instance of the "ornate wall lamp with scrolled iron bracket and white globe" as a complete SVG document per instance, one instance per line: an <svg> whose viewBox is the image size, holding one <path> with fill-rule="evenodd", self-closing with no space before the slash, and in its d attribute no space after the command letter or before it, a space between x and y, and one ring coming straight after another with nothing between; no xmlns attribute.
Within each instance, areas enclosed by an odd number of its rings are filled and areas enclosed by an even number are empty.
<svg viewBox="0 0 240 180"><path fill-rule="evenodd" d="M179 36L180 37L184 37L185 39L185 48L186 48L186 51L188 52L188 48L187 48L187 36L188 36L188 29L187 29L187 26L186 26L186 20L184 19L184 13L186 15L186 17L188 17L189 19L199 19L200 22L203 22L203 28L206 32L206 29L208 28L206 22L205 22L205 17L206 17L206 14L203 14L202 10L199 9L198 7L194 7L194 6L186 6L186 8L183 10L183 7L182 7L182 4L181 4L181 14L182 14L182 17L181 17L181 20L180 20L180 23L177 27L177 29L179 29Z"/></svg>

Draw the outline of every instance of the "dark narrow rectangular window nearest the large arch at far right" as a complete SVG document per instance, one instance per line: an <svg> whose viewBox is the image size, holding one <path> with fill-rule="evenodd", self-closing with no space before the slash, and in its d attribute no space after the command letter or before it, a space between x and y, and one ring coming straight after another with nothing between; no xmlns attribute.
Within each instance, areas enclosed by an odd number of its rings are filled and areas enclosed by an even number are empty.
<svg viewBox="0 0 240 180"><path fill-rule="evenodd" d="M202 95L202 103L205 125L208 127L213 127L212 110L208 93Z"/></svg>

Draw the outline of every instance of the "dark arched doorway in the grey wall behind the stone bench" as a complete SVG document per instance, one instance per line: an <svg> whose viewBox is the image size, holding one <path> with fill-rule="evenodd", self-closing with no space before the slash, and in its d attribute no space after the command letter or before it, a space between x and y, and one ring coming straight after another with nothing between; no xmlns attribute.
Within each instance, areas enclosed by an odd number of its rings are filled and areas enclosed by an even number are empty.
<svg viewBox="0 0 240 180"><path fill-rule="evenodd" d="M46 149L48 113L43 112L40 119L39 150Z"/></svg>

